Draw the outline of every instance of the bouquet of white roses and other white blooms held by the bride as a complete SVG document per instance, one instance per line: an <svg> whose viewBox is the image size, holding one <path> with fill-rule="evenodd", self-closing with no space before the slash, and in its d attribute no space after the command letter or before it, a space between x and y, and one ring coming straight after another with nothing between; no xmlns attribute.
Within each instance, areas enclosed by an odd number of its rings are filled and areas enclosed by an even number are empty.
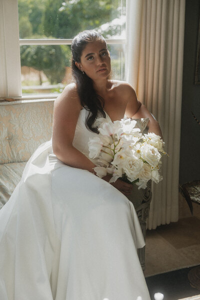
<svg viewBox="0 0 200 300"><path fill-rule="evenodd" d="M105 119L103 119L105 120ZM99 134L88 142L89 157L93 158L94 171L102 178L107 173L109 182L120 178L145 188L149 179L158 183L160 158L166 152L164 142L154 133L142 134L130 118L120 121L103 121Z"/></svg>

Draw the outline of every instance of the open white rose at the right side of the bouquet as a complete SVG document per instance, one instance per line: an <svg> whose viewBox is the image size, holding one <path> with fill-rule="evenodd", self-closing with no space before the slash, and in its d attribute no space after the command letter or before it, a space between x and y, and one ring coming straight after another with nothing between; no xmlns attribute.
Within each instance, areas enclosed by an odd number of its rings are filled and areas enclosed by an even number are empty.
<svg viewBox="0 0 200 300"><path fill-rule="evenodd" d="M158 164L161 157L159 151L154 146L149 145L148 143L144 143L140 147L140 154L141 157L153 167Z"/></svg>

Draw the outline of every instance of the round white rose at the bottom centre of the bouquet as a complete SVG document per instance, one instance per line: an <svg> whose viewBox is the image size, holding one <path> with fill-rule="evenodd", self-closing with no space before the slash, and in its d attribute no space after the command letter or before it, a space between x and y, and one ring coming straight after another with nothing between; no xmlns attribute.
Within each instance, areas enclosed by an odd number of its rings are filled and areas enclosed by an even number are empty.
<svg viewBox="0 0 200 300"><path fill-rule="evenodd" d="M143 161L135 156L126 156L123 160L123 171L127 175L129 181L138 178L138 173L143 167Z"/></svg>

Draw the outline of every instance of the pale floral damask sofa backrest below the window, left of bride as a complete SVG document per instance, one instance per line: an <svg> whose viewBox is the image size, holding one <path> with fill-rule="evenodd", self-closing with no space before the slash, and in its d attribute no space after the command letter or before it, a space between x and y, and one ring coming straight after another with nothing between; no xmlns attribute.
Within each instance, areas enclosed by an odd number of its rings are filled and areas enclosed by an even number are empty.
<svg viewBox="0 0 200 300"><path fill-rule="evenodd" d="M0 103L0 163L27 161L51 138L53 100Z"/></svg>

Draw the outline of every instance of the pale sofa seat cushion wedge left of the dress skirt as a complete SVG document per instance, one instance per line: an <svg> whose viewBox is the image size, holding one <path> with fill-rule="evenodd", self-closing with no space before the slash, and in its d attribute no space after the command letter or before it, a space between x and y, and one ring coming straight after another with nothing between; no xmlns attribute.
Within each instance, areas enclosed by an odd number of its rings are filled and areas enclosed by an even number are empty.
<svg viewBox="0 0 200 300"><path fill-rule="evenodd" d="M7 202L19 182L26 161L0 164L0 208Z"/></svg>

